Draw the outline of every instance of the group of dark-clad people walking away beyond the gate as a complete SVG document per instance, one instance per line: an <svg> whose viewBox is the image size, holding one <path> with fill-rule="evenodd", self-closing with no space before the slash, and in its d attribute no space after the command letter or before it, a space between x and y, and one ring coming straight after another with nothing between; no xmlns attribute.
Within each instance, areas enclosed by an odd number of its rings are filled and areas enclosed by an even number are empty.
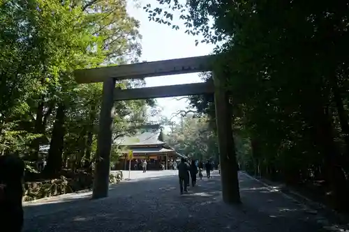
<svg viewBox="0 0 349 232"><path fill-rule="evenodd" d="M196 176L199 173L199 177L202 179L204 168L207 178L211 178L211 171L213 171L214 166L209 160L204 164L204 162L196 162L195 160L187 162L186 159L181 158L181 162L177 165L181 194L188 192L189 178L191 178L191 185L195 187Z"/></svg>

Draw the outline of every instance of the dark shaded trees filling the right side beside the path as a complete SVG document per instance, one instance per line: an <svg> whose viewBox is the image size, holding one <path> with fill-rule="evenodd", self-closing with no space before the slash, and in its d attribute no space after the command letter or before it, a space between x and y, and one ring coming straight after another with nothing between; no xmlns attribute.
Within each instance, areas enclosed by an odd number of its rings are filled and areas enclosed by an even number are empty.
<svg viewBox="0 0 349 232"><path fill-rule="evenodd" d="M173 26L176 15L186 33L203 37L196 45L217 45L215 78L226 79L235 133L251 146L251 153L240 157L245 166L297 185L325 180L318 194L348 208L348 4L158 3L163 6L144 7L149 20ZM214 116L207 98L192 98L193 105Z"/></svg>

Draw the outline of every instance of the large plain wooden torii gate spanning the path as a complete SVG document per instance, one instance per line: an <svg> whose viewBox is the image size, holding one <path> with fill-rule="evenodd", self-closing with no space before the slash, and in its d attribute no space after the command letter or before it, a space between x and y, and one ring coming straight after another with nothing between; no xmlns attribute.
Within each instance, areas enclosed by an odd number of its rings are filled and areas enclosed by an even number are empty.
<svg viewBox="0 0 349 232"><path fill-rule="evenodd" d="M140 79L144 77L211 71L213 69L214 57L196 56L184 59L75 70L75 79L79 84L103 82L103 99L96 153L97 157L101 159L98 159L100 161L96 163L92 194L94 199L106 197L108 194L110 151L112 148L112 107L114 101L214 93L223 201L225 203L240 202L235 144L232 137L231 107L228 93L224 90L223 80L214 77L214 84L195 83L124 90L115 89L115 81L121 79Z"/></svg>

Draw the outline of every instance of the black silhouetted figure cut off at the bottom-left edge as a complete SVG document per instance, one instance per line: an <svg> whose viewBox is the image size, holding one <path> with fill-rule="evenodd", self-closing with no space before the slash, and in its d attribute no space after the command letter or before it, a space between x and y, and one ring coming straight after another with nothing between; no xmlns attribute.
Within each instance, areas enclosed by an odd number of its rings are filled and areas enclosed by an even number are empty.
<svg viewBox="0 0 349 232"><path fill-rule="evenodd" d="M23 160L16 155L0 156L1 232L22 231L24 167Z"/></svg>

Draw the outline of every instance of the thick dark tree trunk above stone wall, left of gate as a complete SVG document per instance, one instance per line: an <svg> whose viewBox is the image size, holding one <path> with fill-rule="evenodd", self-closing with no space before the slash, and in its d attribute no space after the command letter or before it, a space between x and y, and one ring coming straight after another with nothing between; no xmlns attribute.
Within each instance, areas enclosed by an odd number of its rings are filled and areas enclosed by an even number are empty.
<svg viewBox="0 0 349 232"><path fill-rule="evenodd" d="M44 169L44 173L47 176L54 177L62 167L62 153L64 146L64 116L65 105L60 104L57 109L56 120L54 121L52 138L50 143L50 150L48 151L47 165Z"/></svg>

